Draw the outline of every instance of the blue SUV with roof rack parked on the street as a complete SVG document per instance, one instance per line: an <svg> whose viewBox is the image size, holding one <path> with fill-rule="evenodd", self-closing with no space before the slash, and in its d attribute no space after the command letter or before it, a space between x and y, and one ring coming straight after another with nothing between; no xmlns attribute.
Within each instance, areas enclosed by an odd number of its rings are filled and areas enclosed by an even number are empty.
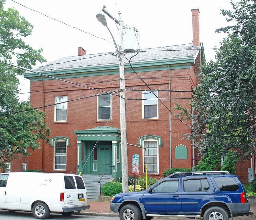
<svg viewBox="0 0 256 220"><path fill-rule="evenodd" d="M110 210L119 213L121 220L153 217L228 220L252 214L241 181L227 171L177 172L145 191L114 195Z"/></svg>

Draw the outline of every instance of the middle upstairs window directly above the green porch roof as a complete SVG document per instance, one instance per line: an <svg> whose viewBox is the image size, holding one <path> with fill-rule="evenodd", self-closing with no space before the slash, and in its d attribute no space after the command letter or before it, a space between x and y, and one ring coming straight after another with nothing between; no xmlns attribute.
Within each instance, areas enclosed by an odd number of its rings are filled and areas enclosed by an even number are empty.
<svg viewBox="0 0 256 220"><path fill-rule="evenodd" d="M98 96L98 120L111 119L111 96L110 94Z"/></svg>

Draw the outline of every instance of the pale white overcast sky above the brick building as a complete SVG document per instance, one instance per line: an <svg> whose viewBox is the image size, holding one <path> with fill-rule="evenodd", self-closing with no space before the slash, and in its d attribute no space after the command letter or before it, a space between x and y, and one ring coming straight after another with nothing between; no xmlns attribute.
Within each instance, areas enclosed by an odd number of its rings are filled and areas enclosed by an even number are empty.
<svg viewBox="0 0 256 220"><path fill-rule="evenodd" d="M32 35L24 40L34 49L42 48L42 55L47 63L62 57L77 56L78 47L83 47L87 54L115 51L107 28L96 18L96 14L104 14L103 5L106 5L106 10L117 19L120 11L121 20L139 31L140 49L191 43L193 38L191 9L199 9L200 41L206 49L206 59L210 61L214 59L214 51L207 49L218 47L219 42L226 37L224 34L215 34L215 30L230 25L220 11L220 9L231 10L230 1L158 0L150 3L148 0L15 0L98 38L11 0L6 0L5 8L15 8L21 16L34 25ZM104 15L118 44L119 31L116 24L106 14ZM20 87L22 93L29 92L29 80L21 78ZM27 97L28 94L21 95L20 99L26 100Z"/></svg>

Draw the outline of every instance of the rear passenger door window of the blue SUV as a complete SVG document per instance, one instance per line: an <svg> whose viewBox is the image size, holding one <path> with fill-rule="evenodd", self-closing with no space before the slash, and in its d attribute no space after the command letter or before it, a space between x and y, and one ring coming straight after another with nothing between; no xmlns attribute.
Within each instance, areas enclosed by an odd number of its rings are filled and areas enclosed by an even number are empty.
<svg viewBox="0 0 256 220"><path fill-rule="evenodd" d="M184 191L185 192L207 192L210 185L207 179L185 179Z"/></svg>

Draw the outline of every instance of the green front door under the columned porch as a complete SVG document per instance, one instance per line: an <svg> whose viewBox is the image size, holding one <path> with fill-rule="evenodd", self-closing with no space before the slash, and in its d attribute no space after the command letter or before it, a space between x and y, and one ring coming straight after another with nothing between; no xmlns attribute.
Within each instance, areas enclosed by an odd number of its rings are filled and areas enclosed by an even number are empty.
<svg viewBox="0 0 256 220"><path fill-rule="evenodd" d="M98 151L98 174L104 174L111 165L111 145L97 145ZM105 174L111 174L109 168Z"/></svg>

